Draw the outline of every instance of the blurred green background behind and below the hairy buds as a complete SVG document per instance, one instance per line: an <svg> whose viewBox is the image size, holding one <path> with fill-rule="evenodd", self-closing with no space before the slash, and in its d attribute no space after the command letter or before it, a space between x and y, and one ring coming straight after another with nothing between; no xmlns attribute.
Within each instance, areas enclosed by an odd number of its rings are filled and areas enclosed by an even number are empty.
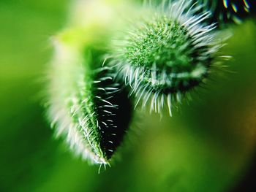
<svg viewBox="0 0 256 192"><path fill-rule="evenodd" d="M228 72L193 93L173 118L136 112L119 158L98 174L99 166L54 139L39 99L49 39L64 27L68 10L68 0L0 0L0 191L253 190L253 20L230 28L233 37L222 49L233 55Z"/></svg>

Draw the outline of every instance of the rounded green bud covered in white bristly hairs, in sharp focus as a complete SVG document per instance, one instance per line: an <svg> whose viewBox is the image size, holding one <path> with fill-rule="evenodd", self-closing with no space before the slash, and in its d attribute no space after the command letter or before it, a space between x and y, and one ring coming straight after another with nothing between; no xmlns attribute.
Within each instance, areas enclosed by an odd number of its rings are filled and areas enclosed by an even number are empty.
<svg viewBox="0 0 256 192"><path fill-rule="evenodd" d="M150 102L151 111L160 112L167 101L171 115L172 100L180 101L206 79L221 45L215 26L203 24L209 12L195 14L201 8L184 0L150 7L118 45L113 43L112 62L137 104Z"/></svg>

